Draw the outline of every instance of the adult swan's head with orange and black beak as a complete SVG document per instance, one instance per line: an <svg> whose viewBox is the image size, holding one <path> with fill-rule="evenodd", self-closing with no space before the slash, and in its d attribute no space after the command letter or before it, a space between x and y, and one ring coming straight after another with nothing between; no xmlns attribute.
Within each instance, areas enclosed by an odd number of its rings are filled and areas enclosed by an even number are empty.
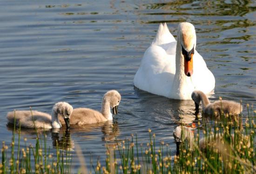
<svg viewBox="0 0 256 174"><path fill-rule="evenodd" d="M195 27L189 22L182 22L178 26L178 38L184 58L184 72L190 77L193 74L193 55L196 46Z"/></svg>

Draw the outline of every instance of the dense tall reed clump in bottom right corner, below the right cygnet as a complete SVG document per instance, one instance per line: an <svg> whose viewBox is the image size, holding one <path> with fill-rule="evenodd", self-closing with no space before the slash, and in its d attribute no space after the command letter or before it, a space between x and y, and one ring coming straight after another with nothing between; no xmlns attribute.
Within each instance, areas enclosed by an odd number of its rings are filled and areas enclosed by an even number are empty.
<svg viewBox="0 0 256 174"><path fill-rule="evenodd" d="M183 142L178 160L174 161L179 166L175 172L255 173L256 113L249 105L247 108L247 117L222 112L219 118L207 122L202 116L202 138L197 129L192 146Z"/></svg>

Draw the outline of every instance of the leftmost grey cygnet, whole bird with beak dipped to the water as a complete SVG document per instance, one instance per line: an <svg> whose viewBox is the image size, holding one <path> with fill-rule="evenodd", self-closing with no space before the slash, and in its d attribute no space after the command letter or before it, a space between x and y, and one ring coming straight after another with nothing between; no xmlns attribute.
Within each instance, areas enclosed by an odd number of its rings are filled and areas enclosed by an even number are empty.
<svg viewBox="0 0 256 174"><path fill-rule="evenodd" d="M66 102L58 102L54 104L52 116L47 113L32 110L16 110L15 119L16 126L23 128L45 128L45 129L60 129L61 123L58 119L58 114L64 118L67 127L69 127L69 119L72 114L73 107ZM34 118L34 122L33 122ZM7 120L14 124L14 111L7 113Z"/></svg>

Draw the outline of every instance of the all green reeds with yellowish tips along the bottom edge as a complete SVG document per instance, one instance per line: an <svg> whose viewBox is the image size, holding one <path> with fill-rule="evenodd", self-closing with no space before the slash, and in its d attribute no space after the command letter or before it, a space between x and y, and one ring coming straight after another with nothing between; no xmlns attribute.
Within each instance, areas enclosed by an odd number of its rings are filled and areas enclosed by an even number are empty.
<svg viewBox="0 0 256 174"><path fill-rule="evenodd" d="M202 116L195 129L193 143L182 132L180 153L173 158L168 144L156 142L156 135L151 129L148 129L148 143L138 143L136 135L115 144L106 142L105 164L101 165L98 160L94 166L91 159L90 173L256 173L256 111L252 107L249 109L249 105L247 109L247 117L222 114L217 119L210 119L210 123ZM35 146L27 146L27 140L24 139L26 148L20 148L20 129L18 131L18 140L15 142L14 126L9 148L5 142L2 144L1 174L72 173L72 155L68 148L60 148L56 142L56 155L50 154L45 133L40 135L36 129ZM15 143L17 146L14 146ZM157 143L160 145L157 146Z"/></svg>

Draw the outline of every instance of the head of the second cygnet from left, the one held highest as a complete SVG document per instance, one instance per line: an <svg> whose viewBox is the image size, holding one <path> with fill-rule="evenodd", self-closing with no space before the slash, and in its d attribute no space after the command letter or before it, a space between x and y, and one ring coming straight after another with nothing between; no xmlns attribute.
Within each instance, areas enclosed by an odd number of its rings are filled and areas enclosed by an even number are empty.
<svg viewBox="0 0 256 174"><path fill-rule="evenodd" d="M113 114L117 114L118 105L121 101L121 95L119 94L119 92L117 90L109 90L103 98L109 101L110 108L112 109Z"/></svg>

